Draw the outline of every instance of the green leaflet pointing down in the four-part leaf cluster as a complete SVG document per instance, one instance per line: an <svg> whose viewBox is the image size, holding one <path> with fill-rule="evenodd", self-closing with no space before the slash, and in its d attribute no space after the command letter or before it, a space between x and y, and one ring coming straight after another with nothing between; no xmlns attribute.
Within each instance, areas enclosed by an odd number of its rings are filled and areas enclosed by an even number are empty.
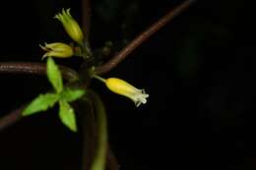
<svg viewBox="0 0 256 170"><path fill-rule="evenodd" d="M77 132L76 116L74 109L68 102L59 101L59 118L61 122L67 126L71 131Z"/></svg>

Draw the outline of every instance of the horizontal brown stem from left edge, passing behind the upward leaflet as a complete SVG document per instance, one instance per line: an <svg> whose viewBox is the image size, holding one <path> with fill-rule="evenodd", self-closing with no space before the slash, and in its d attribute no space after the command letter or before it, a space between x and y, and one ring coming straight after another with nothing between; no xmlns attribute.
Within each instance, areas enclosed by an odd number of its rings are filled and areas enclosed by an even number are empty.
<svg viewBox="0 0 256 170"><path fill-rule="evenodd" d="M59 66L59 68L64 79L78 80L79 76L76 71L65 66ZM45 75L46 65L43 63L0 62L1 73Z"/></svg>

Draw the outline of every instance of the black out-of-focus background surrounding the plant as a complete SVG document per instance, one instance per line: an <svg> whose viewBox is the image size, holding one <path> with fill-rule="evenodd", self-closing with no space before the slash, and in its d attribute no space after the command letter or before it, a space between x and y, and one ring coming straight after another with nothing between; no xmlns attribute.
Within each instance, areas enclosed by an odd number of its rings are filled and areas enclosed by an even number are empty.
<svg viewBox="0 0 256 170"><path fill-rule="evenodd" d="M121 48L180 1L93 2L91 43ZM256 168L255 8L253 1L198 0L160 29L108 77L145 88L136 108L104 85L91 85L106 105L109 141L120 169ZM53 16L62 8L81 19L80 1L3 1L1 62L40 62L38 44L70 42ZM56 60L78 68L80 59ZM50 88L45 77L0 76L0 116ZM1 170L81 169L81 137L57 118L57 108L0 134Z"/></svg>

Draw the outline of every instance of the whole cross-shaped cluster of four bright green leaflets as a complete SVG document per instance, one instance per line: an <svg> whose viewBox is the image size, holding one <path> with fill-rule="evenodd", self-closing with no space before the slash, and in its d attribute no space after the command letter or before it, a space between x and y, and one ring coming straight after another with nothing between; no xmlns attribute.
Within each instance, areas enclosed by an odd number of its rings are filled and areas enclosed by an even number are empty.
<svg viewBox="0 0 256 170"><path fill-rule="evenodd" d="M56 102L59 103L59 118L71 131L77 131L74 109L68 102L72 102L85 94L84 89L64 88L61 73L51 57L47 58L47 78L55 89L55 93L39 94L23 111L23 116L45 111Z"/></svg>

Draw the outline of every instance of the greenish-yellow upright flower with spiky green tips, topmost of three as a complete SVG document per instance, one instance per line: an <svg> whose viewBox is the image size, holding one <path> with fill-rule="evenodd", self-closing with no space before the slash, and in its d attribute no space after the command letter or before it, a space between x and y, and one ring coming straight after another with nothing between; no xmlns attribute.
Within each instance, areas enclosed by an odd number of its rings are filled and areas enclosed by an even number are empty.
<svg viewBox="0 0 256 170"><path fill-rule="evenodd" d="M79 27L78 23L70 15L70 9L67 9L66 11L62 9L62 14L59 13L54 18L58 19L62 23L67 33L74 41L79 44L83 43L83 32Z"/></svg>

